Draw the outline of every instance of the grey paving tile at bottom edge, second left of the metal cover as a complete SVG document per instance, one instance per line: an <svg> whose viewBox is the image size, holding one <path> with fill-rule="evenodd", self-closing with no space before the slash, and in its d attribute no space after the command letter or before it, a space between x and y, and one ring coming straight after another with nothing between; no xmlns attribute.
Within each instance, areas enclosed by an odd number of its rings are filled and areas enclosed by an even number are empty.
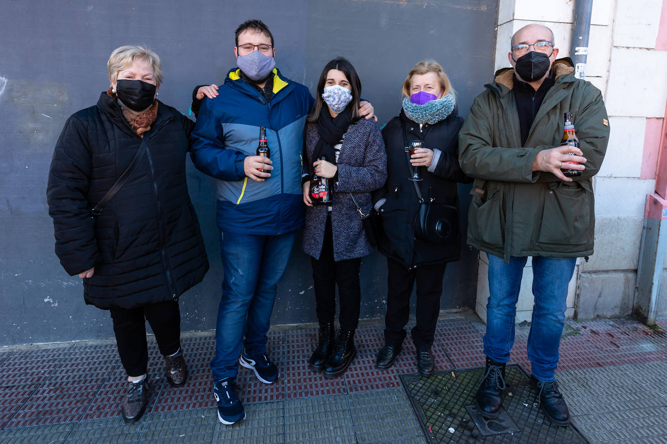
<svg viewBox="0 0 667 444"><path fill-rule="evenodd" d="M346 395L285 401L285 443L356 443Z"/></svg>

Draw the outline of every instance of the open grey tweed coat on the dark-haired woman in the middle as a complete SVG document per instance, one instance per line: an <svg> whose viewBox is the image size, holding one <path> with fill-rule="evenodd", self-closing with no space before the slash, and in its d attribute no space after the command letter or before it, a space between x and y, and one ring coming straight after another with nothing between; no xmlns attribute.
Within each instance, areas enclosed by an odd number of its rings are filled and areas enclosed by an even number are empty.
<svg viewBox="0 0 667 444"><path fill-rule="evenodd" d="M305 158L312 164L315 144L319 140L317 124L305 126ZM338 182L333 184L331 207L331 232L333 234L333 260L361 258L370 254L373 247L366 240L362 219L350 193L368 214L371 210L371 193L382 187L387 179L387 153L382 133L375 120L361 118L350 124L345 133L338 156ZM313 205L305 210L303 227L303 251L319 259L327 221L327 206Z"/></svg>

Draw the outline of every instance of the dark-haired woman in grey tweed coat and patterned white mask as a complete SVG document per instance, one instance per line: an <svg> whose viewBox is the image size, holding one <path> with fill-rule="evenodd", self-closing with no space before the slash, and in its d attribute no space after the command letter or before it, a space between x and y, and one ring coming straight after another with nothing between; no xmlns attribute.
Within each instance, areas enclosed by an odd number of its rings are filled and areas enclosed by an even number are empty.
<svg viewBox="0 0 667 444"><path fill-rule="evenodd" d="M354 330L360 314L361 258L372 252L362 219L371 210L371 192L387 178L387 154L375 120L360 119L358 103L362 90L352 64L335 59L324 67L315 106L304 134L303 184L307 205L303 228L303 251L311 256L319 341L309 359L310 368L326 377L344 373L356 355ZM325 160L317 160L324 158ZM330 205L313 205L309 178L313 172L329 178ZM353 197L354 196L354 200ZM340 331L334 344L336 284L340 297Z"/></svg>

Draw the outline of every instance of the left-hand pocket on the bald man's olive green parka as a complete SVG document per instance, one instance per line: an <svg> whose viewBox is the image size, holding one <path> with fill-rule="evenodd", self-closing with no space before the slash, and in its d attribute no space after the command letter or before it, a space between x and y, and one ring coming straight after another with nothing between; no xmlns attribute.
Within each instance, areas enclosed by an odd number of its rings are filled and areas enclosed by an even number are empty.
<svg viewBox="0 0 667 444"><path fill-rule="evenodd" d="M479 244L502 248L505 243L503 189L490 188L480 193L473 186L473 193L476 194L468 212L468 238Z"/></svg>

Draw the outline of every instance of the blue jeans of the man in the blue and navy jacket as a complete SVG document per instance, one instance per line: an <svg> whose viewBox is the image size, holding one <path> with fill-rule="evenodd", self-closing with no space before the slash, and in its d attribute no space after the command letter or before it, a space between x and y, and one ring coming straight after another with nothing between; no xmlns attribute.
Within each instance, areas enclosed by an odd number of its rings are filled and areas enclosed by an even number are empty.
<svg viewBox="0 0 667 444"><path fill-rule="evenodd" d="M213 381L236 376L241 347L249 356L266 353L278 281L295 237L296 232L277 236L220 232L225 276L211 359Z"/></svg>

